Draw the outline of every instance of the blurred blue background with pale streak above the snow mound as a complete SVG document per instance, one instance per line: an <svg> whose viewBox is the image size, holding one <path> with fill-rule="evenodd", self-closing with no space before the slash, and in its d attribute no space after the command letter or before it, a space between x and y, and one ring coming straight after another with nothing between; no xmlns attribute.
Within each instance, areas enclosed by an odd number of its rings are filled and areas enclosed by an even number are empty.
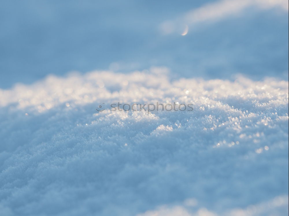
<svg viewBox="0 0 289 216"><path fill-rule="evenodd" d="M0 88L151 66L174 77L288 79L288 1L1 1Z"/></svg>

